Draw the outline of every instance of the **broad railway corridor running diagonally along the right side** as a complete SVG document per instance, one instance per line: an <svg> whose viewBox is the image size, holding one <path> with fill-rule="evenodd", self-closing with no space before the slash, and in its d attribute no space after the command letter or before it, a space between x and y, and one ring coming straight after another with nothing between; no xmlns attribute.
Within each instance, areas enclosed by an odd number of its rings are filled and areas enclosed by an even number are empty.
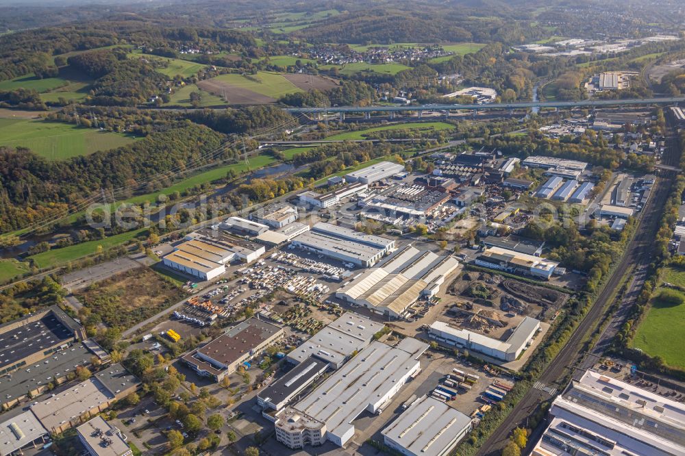
<svg viewBox="0 0 685 456"><path fill-rule="evenodd" d="M678 162L680 153L677 151L677 142L675 141L675 138L670 138L668 144L668 157L664 157L664 161L667 165L673 165ZM637 264L638 268L636 268L636 272L638 275L636 275L635 281L644 280L644 277L640 275L643 273L643 266L641 265L643 262L649 263L649 259L651 258L653 240L659 227L664 203L668 198L671 179L673 179L674 175L674 173L669 171L662 173L662 177L657 179L652 190L651 198L647 201L643 210L643 215L639 220L635 236L627 244L623 257L621 257L616 268L614 268L614 273L609 277L606 285L580 322L580 325L578 325L577 329L575 329L571 335L571 338L569 338L569 341L564 345L549 366L547 366L547 369L545 369L543 374L540 375L540 379L538 379L537 383L539 388L531 388L527 394L523 396L506 420L497 428L493 435L490 435L490 438L477 453L478 455L499 455L499 451L506 445L512 429L521 424L525 425L526 419L531 416L536 410L536 407L538 407L541 402L549 400L549 393L540 388L551 388L552 390L554 388L558 390L564 388L565 385L559 382L564 379L569 366L575 366L577 364L580 353L584 349L586 336L599 324L599 321L605 312L605 304L612 298L614 291L621 286L625 271L630 268L630 266ZM635 281L631 287L632 290L634 290ZM630 292L627 293L625 298L630 299ZM621 305L617 318L620 319L625 312L627 312L626 306L627 304ZM610 327L611 326L612 325L610 325ZM601 338L603 344L606 344L606 340L608 340L609 336L610 330L605 331L603 338ZM599 348L601 348L601 346ZM534 439L530 439L530 441L533 443Z"/></svg>

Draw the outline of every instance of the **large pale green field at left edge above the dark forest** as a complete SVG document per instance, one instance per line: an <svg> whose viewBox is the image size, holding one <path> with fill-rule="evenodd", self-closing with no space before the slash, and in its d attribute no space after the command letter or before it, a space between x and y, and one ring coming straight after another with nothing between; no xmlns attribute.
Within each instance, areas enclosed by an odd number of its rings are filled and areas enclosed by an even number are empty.
<svg viewBox="0 0 685 456"><path fill-rule="evenodd" d="M0 118L0 145L27 147L49 160L105 151L132 142L130 136L39 119Z"/></svg>

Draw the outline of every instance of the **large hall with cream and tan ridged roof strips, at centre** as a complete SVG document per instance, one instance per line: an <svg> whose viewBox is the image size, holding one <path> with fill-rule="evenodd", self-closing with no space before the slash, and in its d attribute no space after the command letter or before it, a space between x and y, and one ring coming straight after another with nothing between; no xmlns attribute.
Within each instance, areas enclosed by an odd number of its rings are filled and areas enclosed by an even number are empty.
<svg viewBox="0 0 685 456"><path fill-rule="evenodd" d="M459 266L452 255L437 255L407 246L377 268L364 271L337 292L336 297L400 318L420 296L433 296Z"/></svg>

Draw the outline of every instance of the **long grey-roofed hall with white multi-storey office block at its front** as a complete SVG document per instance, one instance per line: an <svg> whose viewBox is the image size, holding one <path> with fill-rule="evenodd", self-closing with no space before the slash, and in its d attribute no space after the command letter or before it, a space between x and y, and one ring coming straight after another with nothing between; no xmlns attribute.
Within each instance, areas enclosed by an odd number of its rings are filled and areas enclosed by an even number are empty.
<svg viewBox="0 0 685 456"><path fill-rule="evenodd" d="M404 338L395 347L372 342L306 398L277 414L276 440L293 449L325 440L345 446L360 414L381 413L421 372L419 357L427 348L413 338Z"/></svg>

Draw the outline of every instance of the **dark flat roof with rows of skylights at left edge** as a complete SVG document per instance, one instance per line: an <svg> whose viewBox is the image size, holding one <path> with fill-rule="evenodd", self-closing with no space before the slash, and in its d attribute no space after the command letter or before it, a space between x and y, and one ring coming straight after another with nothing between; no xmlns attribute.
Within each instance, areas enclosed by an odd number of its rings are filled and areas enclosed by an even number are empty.
<svg viewBox="0 0 685 456"><path fill-rule="evenodd" d="M0 334L0 369L73 338L73 332L51 313L40 320L10 329Z"/></svg>

